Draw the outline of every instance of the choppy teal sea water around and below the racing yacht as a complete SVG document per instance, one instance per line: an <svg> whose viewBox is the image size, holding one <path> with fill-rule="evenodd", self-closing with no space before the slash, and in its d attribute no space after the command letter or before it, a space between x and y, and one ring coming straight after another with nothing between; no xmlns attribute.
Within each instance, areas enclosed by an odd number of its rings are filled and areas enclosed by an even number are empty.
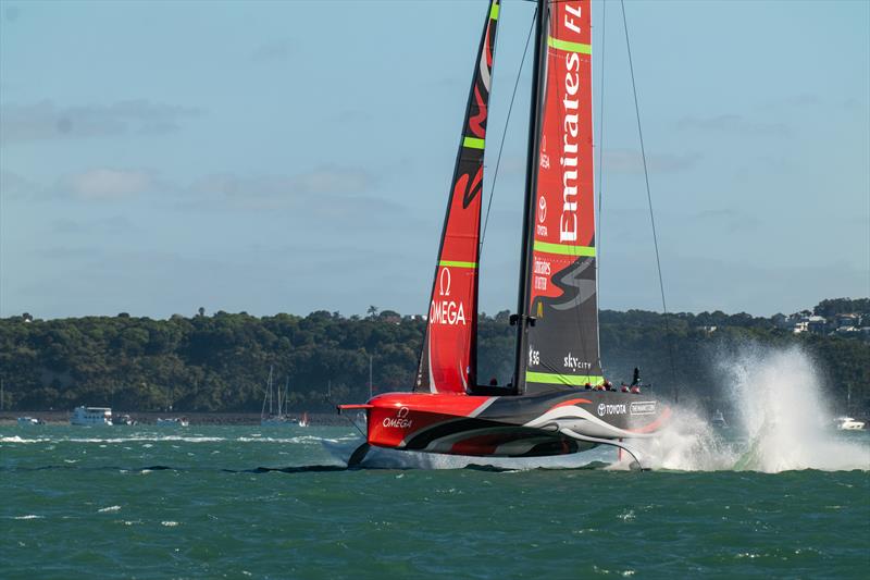
<svg viewBox="0 0 870 580"><path fill-rule="evenodd" d="M870 448L866 432L831 436L844 453ZM867 578L870 569L866 467L637 472L602 468L614 455L596 449L592 466L574 469L421 469L375 456L371 469L344 470L324 443L349 449L355 432L0 425L0 576Z"/></svg>

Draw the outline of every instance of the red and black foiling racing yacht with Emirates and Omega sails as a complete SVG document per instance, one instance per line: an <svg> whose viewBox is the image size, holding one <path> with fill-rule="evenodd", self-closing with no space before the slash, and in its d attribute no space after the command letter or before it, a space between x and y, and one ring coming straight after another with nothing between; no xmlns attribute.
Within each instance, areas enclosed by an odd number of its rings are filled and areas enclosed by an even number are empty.
<svg viewBox="0 0 870 580"><path fill-rule="evenodd" d="M489 2L474 61L420 363L410 393L339 410L366 412L370 445L530 457L600 444L638 457L670 408L605 380L598 345L589 0L538 0L513 378L480 385L476 318L481 189L500 5Z"/></svg>

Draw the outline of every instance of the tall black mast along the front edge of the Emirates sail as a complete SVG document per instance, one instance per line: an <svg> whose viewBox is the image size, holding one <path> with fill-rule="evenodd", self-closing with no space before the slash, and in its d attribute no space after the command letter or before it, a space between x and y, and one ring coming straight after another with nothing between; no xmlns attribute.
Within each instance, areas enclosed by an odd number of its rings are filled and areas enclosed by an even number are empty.
<svg viewBox="0 0 870 580"><path fill-rule="evenodd" d="M540 139L540 100L543 97L544 84L540 77L545 71L547 57L547 0L537 0L537 18L535 26L535 58L532 69L532 104L529 111L529 152L525 160L525 195L523 202L523 237L522 250L520 252L520 289L518 292L517 314L511 317L517 324L517 356L515 370L513 373L513 388L518 394L525 391L525 365L526 357L523 356L526 344L526 324L529 323L529 263L532 251L532 213L534 211L534 200L536 190L536 168L538 157L538 144Z"/></svg>

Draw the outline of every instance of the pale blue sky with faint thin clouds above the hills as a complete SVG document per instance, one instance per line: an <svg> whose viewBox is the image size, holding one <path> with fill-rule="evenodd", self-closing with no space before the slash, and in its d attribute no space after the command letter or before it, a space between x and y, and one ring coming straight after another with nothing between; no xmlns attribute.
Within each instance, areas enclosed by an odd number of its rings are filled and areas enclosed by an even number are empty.
<svg viewBox="0 0 870 580"><path fill-rule="evenodd" d="M0 317L425 312L486 7L3 0ZM499 18L489 313L517 301L533 11ZM625 12L669 310L870 295L870 2ZM660 311L620 4L593 22L599 306Z"/></svg>

